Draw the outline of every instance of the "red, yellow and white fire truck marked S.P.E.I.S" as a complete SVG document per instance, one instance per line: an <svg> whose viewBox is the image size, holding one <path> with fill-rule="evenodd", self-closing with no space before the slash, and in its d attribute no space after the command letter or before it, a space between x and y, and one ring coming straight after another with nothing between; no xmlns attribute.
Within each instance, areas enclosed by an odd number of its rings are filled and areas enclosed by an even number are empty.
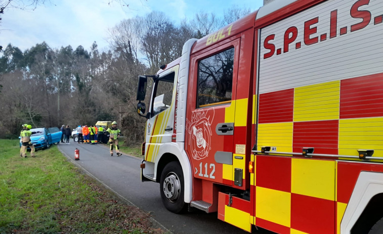
<svg viewBox="0 0 383 234"><path fill-rule="evenodd" d="M276 0L188 40L139 77L142 181L247 231L383 233L382 38L381 0Z"/></svg>

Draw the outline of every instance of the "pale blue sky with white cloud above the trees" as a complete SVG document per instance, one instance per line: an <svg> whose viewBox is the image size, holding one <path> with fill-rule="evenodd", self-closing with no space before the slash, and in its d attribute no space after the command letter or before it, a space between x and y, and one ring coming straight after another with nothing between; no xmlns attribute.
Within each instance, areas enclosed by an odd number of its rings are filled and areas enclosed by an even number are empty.
<svg viewBox="0 0 383 234"><path fill-rule="evenodd" d="M14 0L15 1L15 0ZM236 5L257 10L263 0L125 0L128 7L107 0L51 0L34 11L6 9L0 17L0 45L11 43L25 51L36 43L46 41L51 48L82 45L90 50L94 41L99 50L108 46L108 28L123 19L145 16L161 11L178 24L182 19L192 19L198 12L214 12L222 17L224 10Z"/></svg>

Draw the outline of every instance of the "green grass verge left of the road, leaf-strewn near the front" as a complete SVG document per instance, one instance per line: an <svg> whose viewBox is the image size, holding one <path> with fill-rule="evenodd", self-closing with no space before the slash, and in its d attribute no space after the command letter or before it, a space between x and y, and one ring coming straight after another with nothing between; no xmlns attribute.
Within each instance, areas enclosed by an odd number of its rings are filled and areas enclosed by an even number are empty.
<svg viewBox="0 0 383 234"><path fill-rule="evenodd" d="M163 233L147 213L82 174L57 146L21 158L18 140L0 139L0 145L0 233Z"/></svg>

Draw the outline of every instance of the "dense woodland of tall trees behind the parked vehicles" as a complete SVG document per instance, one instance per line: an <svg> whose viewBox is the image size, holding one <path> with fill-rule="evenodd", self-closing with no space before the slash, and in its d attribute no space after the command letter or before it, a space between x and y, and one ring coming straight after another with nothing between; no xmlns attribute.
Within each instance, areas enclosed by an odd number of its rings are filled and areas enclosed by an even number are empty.
<svg viewBox="0 0 383 234"><path fill-rule="evenodd" d="M180 57L189 38L201 38L248 13L233 6L222 19L203 12L176 23L161 12L125 19L109 29L108 51L99 51L96 41L90 49L41 42L24 52L3 45L0 138L17 137L23 123L74 128L109 120L117 121L127 144L141 143L146 119L136 111L138 76L154 74Z"/></svg>

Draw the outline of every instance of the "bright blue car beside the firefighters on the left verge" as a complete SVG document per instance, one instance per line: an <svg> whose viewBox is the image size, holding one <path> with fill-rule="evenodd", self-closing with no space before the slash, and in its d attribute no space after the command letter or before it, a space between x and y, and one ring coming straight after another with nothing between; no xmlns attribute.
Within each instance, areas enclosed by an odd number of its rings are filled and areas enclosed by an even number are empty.
<svg viewBox="0 0 383 234"><path fill-rule="evenodd" d="M47 149L53 144L60 144L62 132L60 131L58 127L50 127L50 128L40 127L40 128L32 128L30 130L32 132L36 132L30 136L31 143L34 145L35 149L40 149L40 148ZM20 147L21 147L21 139L20 139Z"/></svg>

